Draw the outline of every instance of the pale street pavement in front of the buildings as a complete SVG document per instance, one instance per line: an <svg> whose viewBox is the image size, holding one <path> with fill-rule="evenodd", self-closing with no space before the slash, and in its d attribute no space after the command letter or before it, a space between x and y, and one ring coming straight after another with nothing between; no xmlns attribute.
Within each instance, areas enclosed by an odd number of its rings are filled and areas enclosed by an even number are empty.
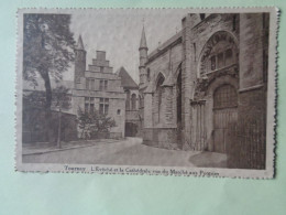
<svg viewBox="0 0 286 215"><path fill-rule="evenodd" d="M211 153L211 152L209 152ZM127 138L112 143L72 148L41 154L23 154L24 163L69 163L69 164L113 164L113 165L154 165L154 166L196 166L201 152L167 150L142 144L141 138ZM217 155L222 158L221 155ZM216 157L216 159L217 159ZM191 158L195 158L194 162ZM204 160L208 158L206 153ZM211 157L210 157L211 158ZM212 158L215 158L212 155ZM221 162L222 159L219 159ZM208 166L213 161L207 161ZM198 165L199 166L199 165Z"/></svg>

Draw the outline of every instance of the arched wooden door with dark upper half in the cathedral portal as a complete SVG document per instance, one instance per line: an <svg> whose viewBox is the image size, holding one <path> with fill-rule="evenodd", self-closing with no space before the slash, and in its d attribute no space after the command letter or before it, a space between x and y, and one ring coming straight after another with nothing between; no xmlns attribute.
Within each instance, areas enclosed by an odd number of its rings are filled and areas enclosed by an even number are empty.
<svg viewBox="0 0 286 215"><path fill-rule="evenodd" d="M229 84L221 85L213 94L213 151L226 153L228 128L237 120L237 89Z"/></svg>

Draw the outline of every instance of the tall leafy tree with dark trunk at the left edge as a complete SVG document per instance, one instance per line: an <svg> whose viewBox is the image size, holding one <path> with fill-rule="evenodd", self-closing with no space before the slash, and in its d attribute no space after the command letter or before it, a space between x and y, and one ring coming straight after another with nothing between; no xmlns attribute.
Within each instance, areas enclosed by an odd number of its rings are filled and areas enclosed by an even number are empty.
<svg viewBox="0 0 286 215"><path fill-rule="evenodd" d="M62 79L74 61L75 41L69 30L69 14L24 14L23 78L45 84L46 108L52 106L51 78Z"/></svg>

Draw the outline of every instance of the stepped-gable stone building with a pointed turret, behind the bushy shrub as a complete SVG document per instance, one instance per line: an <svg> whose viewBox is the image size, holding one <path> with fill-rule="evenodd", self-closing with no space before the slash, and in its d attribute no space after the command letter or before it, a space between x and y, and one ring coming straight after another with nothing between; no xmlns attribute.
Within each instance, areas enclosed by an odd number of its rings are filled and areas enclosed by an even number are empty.
<svg viewBox="0 0 286 215"><path fill-rule="evenodd" d="M73 89L73 112L99 110L116 120L110 138L124 137L125 93L121 77L113 73L106 60L106 52L97 51L97 58L86 68L86 51L79 36L75 50L75 87Z"/></svg>

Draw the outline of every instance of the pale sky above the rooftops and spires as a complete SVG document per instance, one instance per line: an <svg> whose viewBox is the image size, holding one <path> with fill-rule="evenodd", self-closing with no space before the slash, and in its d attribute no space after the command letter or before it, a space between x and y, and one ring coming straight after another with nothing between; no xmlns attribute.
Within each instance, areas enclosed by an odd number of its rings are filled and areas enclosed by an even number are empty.
<svg viewBox="0 0 286 215"><path fill-rule="evenodd" d="M187 9L97 9L72 11L70 31L81 34L87 65L96 51L106 51L113 73L123 66L139 83L139 45L144 23L148 53L182 30ZM64 74L73 80L74 67Z"/></svg>

